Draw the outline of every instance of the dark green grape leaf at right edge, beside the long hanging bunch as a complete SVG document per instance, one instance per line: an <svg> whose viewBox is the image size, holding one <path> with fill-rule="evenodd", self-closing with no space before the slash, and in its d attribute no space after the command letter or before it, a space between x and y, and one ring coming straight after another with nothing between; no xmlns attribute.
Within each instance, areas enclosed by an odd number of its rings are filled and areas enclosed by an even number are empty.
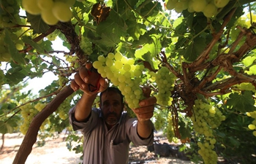
<svg viewBox="0 0 256 164"><path fill-rule="evenodd" d="M250 91L245 91L243 94L231 93L227 100L227 106L233 106L233 109L243 113L255 111L254 104L255 100Z"/></svg>

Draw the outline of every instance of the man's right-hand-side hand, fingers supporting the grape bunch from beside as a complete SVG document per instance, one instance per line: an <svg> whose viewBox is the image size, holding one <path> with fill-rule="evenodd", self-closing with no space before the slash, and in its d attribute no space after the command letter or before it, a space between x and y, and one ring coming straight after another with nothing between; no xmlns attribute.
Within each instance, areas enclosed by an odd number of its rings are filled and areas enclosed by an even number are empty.
<svg viewBox="0 0 256 164"><path fill-rule="evenodd" d="M149 87L143 87L143 94L146 98L140 101L139 108L132 109L132 111L136 114L138 121L144 122L153 117L154 104L157 103L157 98L150 96L150 93L151 89Z"/></svg>

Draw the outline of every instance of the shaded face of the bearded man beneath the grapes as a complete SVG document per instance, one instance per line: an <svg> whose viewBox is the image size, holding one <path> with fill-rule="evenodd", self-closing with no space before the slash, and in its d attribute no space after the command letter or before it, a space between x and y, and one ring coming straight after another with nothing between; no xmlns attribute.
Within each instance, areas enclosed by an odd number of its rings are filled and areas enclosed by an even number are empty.
<svg viewBox="0 0 256 164"><path fill-rule="evenodd" d="M116 125L123 112L124 105L121 103L121 95L113 91L102 94L102 102L99 104L103 118L110 128Z"/></svg>

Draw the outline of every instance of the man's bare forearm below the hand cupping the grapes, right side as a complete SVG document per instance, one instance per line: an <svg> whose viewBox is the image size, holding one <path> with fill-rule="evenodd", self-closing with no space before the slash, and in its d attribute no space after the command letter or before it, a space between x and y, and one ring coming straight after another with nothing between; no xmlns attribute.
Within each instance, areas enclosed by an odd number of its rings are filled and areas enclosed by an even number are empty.
<svg viewBox="0 0 256 164"><path fill-rule="evenodd" d="M138 120L137 133L140 138L148 138L153 130L151 120L140 121Z"/></svg>

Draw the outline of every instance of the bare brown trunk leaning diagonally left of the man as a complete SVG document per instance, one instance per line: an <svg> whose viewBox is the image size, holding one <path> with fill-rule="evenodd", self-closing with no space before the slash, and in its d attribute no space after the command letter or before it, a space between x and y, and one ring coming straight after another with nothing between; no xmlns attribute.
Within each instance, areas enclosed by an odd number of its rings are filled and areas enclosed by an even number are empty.
<svg viewBox="0 0 256 164"><path fill-rule="evenodd" d="M26 162L27 157L32 151L34 143L37 141L37 133L42 125L42 122L44 122L45 119L50 116L50 114L55 112L59 105L73 92L74 91L70 86L64 87L63 90L56 95L56 98L54 98L50 104L45 106L45 108L34 117L29 126L29 130L27 131L26 136L23 138L22 144L18 149L15 159L13 160L13 164L24 164Z"/></svg>

